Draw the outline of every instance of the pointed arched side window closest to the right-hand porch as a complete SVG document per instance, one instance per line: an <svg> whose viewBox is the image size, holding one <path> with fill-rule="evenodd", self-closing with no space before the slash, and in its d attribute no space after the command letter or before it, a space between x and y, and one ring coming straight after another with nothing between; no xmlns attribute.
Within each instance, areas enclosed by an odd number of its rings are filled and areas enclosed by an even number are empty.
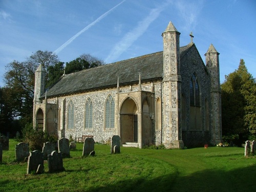
<svg viewBox="0 0 256 192"><path fill-rule="evenodd" d="M105 130L115 128L115 100L112 95L106 98L105 103Z"/></svg>

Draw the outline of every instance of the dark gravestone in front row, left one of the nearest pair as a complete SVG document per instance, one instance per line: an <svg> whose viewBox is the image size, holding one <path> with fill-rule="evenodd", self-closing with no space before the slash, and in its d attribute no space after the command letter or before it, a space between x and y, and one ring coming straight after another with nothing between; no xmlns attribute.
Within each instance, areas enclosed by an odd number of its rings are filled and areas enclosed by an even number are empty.
<svg viewBox="0 0 256 192"><path fill-rule="evenodd" d="M29 154L30 155L28 159L27 174L30 174L31 171L34 171L38 174L42 173L44 171L44 168L43 170L41 170L42 166L44 166L44 155L42 154L42 152L35 150L33 152L30 152Z"/></svg>

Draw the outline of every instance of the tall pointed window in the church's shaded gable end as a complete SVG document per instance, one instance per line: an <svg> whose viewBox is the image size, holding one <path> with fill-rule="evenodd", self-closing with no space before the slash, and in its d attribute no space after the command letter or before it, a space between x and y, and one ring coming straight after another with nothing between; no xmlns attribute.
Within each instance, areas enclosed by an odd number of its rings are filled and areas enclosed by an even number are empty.
<svg viewBox="0 0 256 192"><path fill-rule="evenodd" d="M196 73L190 78L189 82L190 100L190 130L202 130L201 106L200 106L200 87Z"/></svg>

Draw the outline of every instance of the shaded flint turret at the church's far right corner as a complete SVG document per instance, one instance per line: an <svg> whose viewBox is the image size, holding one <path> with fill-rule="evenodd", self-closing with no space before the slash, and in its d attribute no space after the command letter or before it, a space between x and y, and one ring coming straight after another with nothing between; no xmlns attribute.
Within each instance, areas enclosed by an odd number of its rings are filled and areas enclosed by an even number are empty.
<svg viewBox="0 0 256 192"><path fill-rule="evenodd" d="M214 145L222 140L219 54L212 44L205 53L206 67L211 76L211 144Z"/></svg>

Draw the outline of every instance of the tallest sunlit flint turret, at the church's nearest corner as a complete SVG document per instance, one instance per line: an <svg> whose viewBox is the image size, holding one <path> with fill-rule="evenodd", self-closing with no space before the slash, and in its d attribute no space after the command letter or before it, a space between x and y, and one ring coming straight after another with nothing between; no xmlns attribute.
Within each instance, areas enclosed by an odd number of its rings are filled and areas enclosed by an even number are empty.
<svg viewBox="0 0 256 192"><path fill-rule="evenodd" d="M180 32L169 22L163 37L163 143L183 148L181 137Z"/></svg>

